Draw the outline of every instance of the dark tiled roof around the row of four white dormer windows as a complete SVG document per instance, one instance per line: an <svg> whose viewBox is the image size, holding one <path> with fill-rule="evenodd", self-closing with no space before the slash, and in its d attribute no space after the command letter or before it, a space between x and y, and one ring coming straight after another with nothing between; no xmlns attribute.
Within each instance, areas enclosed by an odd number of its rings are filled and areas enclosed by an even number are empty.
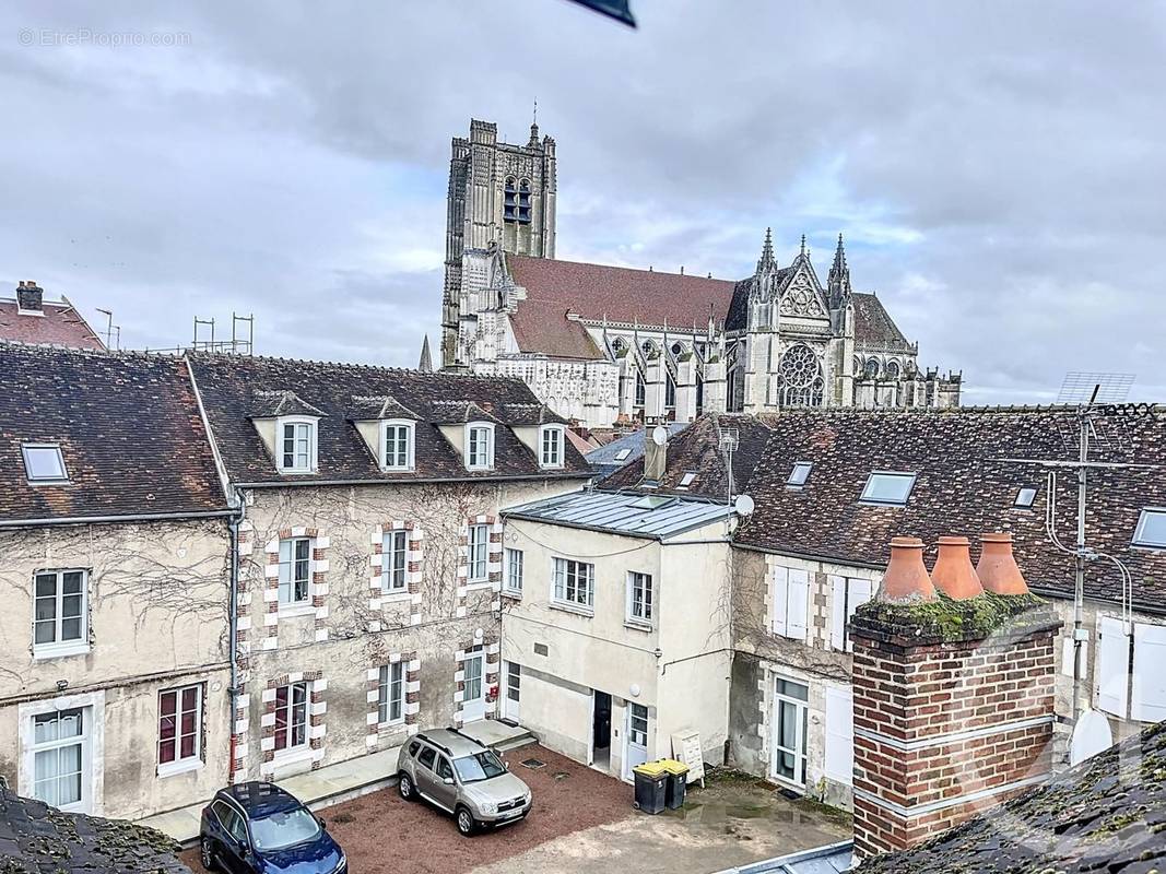
<svg viewBox="0 0 1166 874"><path fill-rule="evenodd" d="M548 414L521 381L493 376L298 361L243 355L190 357L206 417L227 474L236 484L378 482L434 479L584 478L590 473L578 451L564 446L562 470L541 470L512 428L562 420ZM318 425L318 470L280 474L251 418L255 394L293 392L323 414ZM392 397L417 420L415 470L380 470L353 422L368 411L370 397ZM472 413L473 409L478 411ZM438 423L482 416L500 424L494 432L493 471L466 471L461 454Z"/></svg>

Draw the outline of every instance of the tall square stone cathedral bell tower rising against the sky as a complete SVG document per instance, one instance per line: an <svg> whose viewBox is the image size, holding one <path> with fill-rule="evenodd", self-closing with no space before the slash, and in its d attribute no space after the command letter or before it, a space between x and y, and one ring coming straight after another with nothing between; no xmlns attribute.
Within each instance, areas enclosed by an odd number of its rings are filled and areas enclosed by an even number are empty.
<svg viewBox="0 0 1166 874"><path fill-rule="evenodd" d="M555 141L531 125L525 146L498 141L498 126L470 121L470 138L455 136L445 219L442 297L442 366L459 367L458 323L473 317L465 299L465 256L492 245L534 258L555 256Z"/></svg>

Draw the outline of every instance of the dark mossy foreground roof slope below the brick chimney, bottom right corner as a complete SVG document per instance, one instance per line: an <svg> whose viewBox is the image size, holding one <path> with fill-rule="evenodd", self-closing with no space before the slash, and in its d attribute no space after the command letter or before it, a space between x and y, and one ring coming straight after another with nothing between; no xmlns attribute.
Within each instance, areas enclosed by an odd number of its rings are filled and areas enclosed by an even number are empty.
<svg viewBox="0 0 1166 874"><path fill-rule="evenodd" d="M1166 723L857 874L1166 871Z"/></svg>

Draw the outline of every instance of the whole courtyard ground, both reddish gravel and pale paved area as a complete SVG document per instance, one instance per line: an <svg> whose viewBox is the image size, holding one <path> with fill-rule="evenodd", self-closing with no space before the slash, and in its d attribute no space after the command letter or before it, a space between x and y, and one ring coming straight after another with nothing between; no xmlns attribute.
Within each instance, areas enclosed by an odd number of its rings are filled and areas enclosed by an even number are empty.
<svg viewBox="0 0 1166 874"><path fill-rule="evenodd" d="M536 757L538 770L520 762ZM745 780L693 788L683 811L646 816L632 808L632 788L538 746L506 756L534 791L522 823L471 839L451 818L401 801L395 789L322 811L329 831L360 874L708 874L742 862L829 844L849 825L821 809L789 802ZM183 860L202 873L197 851Z"/></svg>

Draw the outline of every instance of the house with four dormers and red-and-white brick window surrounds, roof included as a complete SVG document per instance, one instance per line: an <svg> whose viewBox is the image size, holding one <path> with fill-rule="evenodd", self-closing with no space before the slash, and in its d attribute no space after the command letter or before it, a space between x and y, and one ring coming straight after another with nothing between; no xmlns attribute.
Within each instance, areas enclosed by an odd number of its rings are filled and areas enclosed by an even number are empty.
<svg viewBox="0 0 1166 874"><path fill-rule="evenodd" d="M500 509L586 480L563 421L513 380L239 357L190 367L244 514L233 780L496 716Z"/></svg>

